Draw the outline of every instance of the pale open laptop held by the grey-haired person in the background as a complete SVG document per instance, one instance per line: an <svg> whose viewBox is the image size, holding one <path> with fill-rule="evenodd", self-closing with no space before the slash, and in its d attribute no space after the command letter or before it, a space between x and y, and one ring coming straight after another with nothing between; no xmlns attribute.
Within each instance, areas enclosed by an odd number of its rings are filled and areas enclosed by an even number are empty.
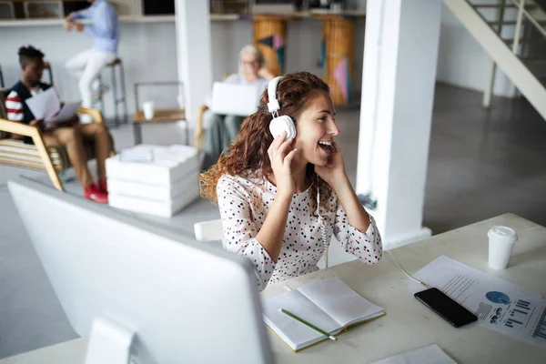
<svg viewBox="0 0 546 364"><path fill-rule="evenodd" d="M219 115L249 116L258 110L256 85L215 82L212 86L212 111Z"/></svg>

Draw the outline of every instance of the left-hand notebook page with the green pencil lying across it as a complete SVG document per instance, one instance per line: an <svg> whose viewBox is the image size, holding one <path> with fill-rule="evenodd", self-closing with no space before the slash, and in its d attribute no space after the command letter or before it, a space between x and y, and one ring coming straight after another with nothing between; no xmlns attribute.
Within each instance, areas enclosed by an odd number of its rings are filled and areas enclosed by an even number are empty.
<svg viewBox="0 0 546 364"><path fill-rule="evenodd" d="M263 302L264 321L294 350L306 347L325 339L325 337L314 329L310 329L301 322L280 312L278 308L284 308L319 329L330 333L335 333L340 329L339 324L334 319L330 318L298 290L291 290L268 299Z"/></svg>

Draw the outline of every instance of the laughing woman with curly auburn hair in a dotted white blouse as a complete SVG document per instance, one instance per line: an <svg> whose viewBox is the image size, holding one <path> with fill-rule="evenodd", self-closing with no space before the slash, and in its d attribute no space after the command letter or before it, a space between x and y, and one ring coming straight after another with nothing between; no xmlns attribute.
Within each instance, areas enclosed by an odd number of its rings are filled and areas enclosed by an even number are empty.
<svg viewBox="0 0 546 364"><path fill-rule="evenodd" d="M271 135L266 90L258 111L201 175L201 195L220 210L224 248L251 259L260 290L318 270L332 233L345 251L377 263L381 238L334 141L339 128L329 86L308 72L292 73L280 78L276 95L278 115L294 120L296 137Z"/></svg>

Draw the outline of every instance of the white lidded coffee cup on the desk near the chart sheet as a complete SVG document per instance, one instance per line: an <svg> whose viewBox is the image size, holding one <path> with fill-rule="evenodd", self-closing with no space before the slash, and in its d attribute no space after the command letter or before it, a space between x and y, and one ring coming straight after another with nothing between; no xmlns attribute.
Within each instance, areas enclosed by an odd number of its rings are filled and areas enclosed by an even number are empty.
<svg viewBox="0 0 546 364"><path fill-rule="evenodd" d="M493 269L504 269L508 266L511 251L516 245L518 235L511 227L491 227L489 237L489 266Z"/></svg>

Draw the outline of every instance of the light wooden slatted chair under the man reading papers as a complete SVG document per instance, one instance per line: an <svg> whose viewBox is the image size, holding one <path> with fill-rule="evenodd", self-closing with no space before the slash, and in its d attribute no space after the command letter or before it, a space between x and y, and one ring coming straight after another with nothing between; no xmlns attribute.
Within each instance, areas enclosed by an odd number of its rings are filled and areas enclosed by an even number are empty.
<svg viewBox="0 0 546 364"><path fill-rule="evenodd" d="M9 89L0 90L0 164L45 170L53 186L64 191L63 181L59 174L71 167L66 148L46 147L39 128L7 120L5 97L8 92ZM95 123L104 123L104 118L99 110L80 107L79 112L91 116ZM9 134L30 136L34 145L8 138ZM88 159L95 157L93 146L86 146L86 152ZM114 151L112 153L114 154Z"/></svg>

